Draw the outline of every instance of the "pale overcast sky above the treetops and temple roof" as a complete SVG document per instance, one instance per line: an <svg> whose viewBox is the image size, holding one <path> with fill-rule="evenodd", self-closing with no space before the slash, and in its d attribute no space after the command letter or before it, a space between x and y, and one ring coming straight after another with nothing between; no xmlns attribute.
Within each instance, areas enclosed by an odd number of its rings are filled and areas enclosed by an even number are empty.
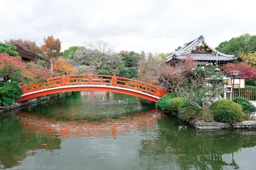
<svg viewBox="0 0 256 170"><path fill-rule="evenodd" d="M41 45L54 35L62 50L104 40L115 50L172 52L203 35L210 46L256 35L255 0L0 0L0 41Z"/></svg>

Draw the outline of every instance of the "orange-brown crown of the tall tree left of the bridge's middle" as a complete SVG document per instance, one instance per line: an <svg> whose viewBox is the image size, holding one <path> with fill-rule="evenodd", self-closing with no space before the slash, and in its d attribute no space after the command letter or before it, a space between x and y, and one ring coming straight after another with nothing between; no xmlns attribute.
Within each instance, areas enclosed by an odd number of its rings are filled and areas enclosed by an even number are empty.
<svg viewBox="0 0 256 170"><path fill-rule="evenodd" d="M44 44L40 47L40 51L43 57L47 59L57 58L61 48L62 43L60 39L55 39L53 35L44 38Z"/></svg>

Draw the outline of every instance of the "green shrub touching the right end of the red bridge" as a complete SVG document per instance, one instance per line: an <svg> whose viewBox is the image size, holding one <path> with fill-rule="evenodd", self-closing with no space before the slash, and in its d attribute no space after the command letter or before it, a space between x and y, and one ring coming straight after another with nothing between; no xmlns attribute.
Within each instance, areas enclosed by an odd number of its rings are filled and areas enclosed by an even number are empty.
<svg viewBox="0 0 256 170"><path fill-rule="evenodd" d="M160 99L156 102L156 108L160 109L164 113L170 112L170 100L176 97L174 93L168 93L167 95L160 97Z"/></svg>

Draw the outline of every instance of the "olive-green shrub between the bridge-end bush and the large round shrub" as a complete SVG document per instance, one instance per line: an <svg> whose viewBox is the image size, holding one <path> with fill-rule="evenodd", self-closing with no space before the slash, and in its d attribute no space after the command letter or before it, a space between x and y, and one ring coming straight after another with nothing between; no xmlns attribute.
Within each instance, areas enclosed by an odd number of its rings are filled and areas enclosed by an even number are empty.
<svg viewBox="0 0 256 170"><path fill-rule="evenodd" d="M182 120L189 121L196 119L199 115L201 115L202 110L188 103L187 101L181 102L178 108L178 115Z"/></svg>

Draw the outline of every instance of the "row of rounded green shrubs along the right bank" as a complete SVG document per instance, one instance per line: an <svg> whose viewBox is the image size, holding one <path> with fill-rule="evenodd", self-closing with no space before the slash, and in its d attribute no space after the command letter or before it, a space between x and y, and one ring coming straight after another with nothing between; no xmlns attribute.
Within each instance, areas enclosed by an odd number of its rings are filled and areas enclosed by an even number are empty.
<svg viewBox="0 0 256 170"><path fill-rule="evenodd" d="M233 100L234 102L230 100L218 100L205 113L203 109L193 106L185 98L176 97L174 93L170 93L161 97L156 102L156 108L168 115L177 115L181 120L185 121L196 119L211 122L213 121L213 117L217 122L227 123L242 122L245 117L244 113L256 111L255 106L243 97L237 97Z"/></svg>

